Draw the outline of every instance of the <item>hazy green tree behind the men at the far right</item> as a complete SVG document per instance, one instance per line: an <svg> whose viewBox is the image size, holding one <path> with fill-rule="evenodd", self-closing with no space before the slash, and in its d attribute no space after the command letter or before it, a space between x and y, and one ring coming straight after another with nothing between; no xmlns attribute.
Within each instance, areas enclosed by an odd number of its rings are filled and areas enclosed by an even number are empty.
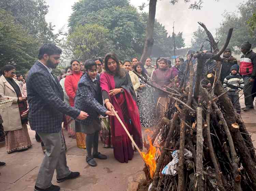
<svg viewBox="0 0 256 191"><path fill-rule="evenodd" d="M250 41L252 47L256 46L256 30L251 31L248 20L253 17L256 10L256 1L247 0L238 5L238 13L224 13L224 21L218 30L219 44L223 45L230 28L234 28L229 47L240 47L244 41Z"/></svg>

